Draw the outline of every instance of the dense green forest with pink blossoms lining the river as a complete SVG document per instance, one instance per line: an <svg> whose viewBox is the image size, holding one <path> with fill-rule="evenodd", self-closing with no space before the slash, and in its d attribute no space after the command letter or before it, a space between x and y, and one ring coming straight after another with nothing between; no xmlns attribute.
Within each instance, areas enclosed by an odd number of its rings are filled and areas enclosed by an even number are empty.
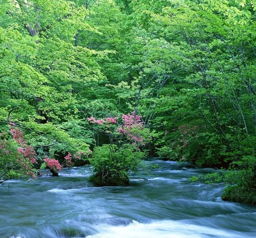
<svg viewBox="0 0 256 238"><path fill-rule="evenodd" d="M0 184L148 155L256 203L256 0L0 0Z"/></svg>

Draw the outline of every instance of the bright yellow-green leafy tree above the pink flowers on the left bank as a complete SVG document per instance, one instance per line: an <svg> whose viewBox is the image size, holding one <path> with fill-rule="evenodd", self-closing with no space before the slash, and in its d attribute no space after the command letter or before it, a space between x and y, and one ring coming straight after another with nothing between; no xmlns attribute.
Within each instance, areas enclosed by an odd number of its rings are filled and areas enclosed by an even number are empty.
<svg viewBox="0 0 256 238"><path fill-rule="evenodd" d="M1 6L0 120L17 123L50 156L86 152L92 140L79 114L80 88L104 78L95 58L106 55L75 44L81 28L96 31L84 21L88 10L64 0Z"/></svg>

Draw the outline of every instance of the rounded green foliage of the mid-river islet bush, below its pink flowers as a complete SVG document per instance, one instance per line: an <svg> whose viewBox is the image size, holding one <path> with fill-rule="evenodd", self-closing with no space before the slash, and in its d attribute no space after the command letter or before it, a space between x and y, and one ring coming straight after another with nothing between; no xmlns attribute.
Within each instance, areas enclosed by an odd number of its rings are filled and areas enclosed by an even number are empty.
<svg viewBox="0 0 256 238"><path fill-rule="evenodd" d="M97 186L128 185L128 174L139 167L144 157L145 153L131 144L97 146L89 158L94 173L90 181Z"/></svg>

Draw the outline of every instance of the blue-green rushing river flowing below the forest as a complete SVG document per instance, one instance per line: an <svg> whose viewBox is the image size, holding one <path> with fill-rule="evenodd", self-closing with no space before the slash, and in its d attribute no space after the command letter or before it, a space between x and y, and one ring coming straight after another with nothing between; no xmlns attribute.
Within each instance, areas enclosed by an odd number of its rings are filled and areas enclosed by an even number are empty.
<svg viewBox="0 0 256 238"><path fill-rule="evenodd" d="M221 200L223 186L193 183L210 169L159 168L128 187L93 187L89 169L0 186L0 238L255 238L256 207Z"/></svg>

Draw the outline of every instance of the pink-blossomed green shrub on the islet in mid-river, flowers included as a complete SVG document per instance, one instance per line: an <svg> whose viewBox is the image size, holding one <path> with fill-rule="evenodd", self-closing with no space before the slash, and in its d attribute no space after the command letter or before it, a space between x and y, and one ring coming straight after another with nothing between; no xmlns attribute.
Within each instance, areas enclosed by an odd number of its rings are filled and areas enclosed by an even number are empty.
<svg viewBox="0 0 256 238"><path fill-rule="evenodd" d="M98 186L127 185L128 174L136 170L146 156L141 147L150 141L150 131L144 127L141 116L133 111L120 120L89 117L87 121L93 125L93 131L109 137L109 144L96 146L89 158L94 173L90 181Z"/></svg>

